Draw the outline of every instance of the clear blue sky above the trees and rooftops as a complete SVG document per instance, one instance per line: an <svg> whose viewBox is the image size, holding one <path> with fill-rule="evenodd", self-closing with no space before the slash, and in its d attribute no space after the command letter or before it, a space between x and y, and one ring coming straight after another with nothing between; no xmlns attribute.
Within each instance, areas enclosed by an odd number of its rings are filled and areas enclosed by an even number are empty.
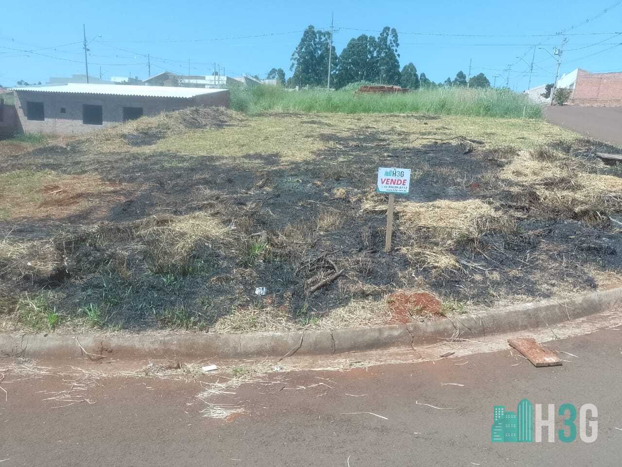
<svg viewBox="0 0 622 467"><path fill-rule="evenodd" d="M566 30L562 72L622 70L622 45L616 47L622 35L615 36L622 32L621 3L569 0L555 9L550 2L490 0L10 2L2 7L0 84L11 86L19 79L45 83L50 76L84 73L83 23L87 39L93 39L90 75L99 76L101 66L104 78L146 78L144 55L151 54L152 75L164 69L187 73L190 59L190 72L197 75L213 72L216 62L230 75L265 76L270 68L282 67L289 77L290 55L302 30L309 24L329 27L333 11L338 52L351 37L377 35L374 31L391 26L400 32L402 66L413 62L438 82L458 70L467 73L471 59L472 75L483 72L491 82L498 75L497 85L509 75L509 86L522 90L529 80L530 47L552 52L561 41L560 36L523 36ZM611 34L595 34L601 32ZM535 63L532 85L552 82L556 64L546 50L536 49Z"/></svg>

